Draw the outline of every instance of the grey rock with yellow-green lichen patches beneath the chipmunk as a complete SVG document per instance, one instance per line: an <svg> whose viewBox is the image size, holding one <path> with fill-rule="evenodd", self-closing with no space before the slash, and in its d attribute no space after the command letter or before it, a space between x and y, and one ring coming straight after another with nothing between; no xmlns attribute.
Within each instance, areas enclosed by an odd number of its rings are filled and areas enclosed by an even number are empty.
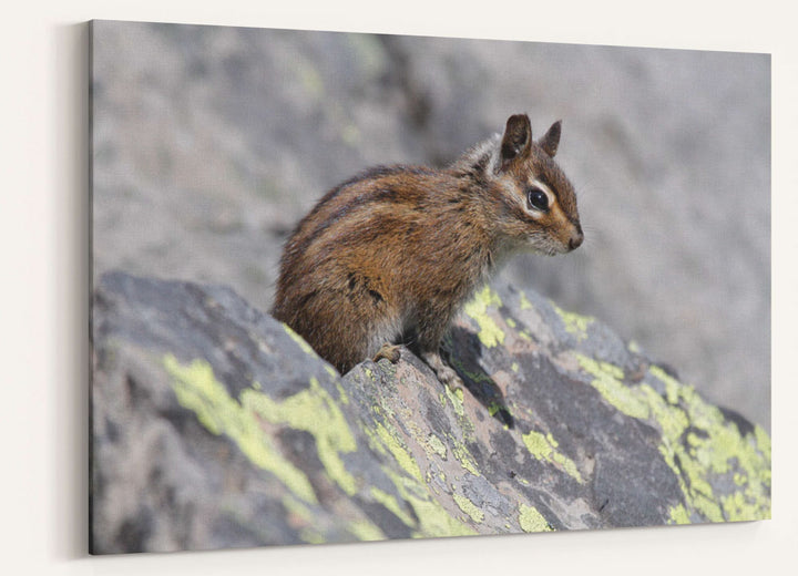
<svg viewBox="0 0 798 576"><path fill-rule="evenodd" d="M770 441L598 321L484 288L340 377L231 289L99 282L92 552L767 518Z"/></svg>

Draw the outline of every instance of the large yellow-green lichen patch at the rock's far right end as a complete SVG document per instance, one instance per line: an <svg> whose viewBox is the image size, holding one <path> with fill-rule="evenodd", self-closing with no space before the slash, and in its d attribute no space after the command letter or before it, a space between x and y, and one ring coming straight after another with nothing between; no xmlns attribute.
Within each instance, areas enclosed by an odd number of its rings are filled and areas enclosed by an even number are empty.
<svg viewBox="0 0 798 576"><path fill-rule="evenodd" d="M651 367L648 379L664 384L663 395L644 381L626 385L623 371L577 354L583 370L604 399L626 415L653 420L662 431L658 451L673 470L685 504L671 510L671 522L688 522L693 512L710 522L770 517L770 439L759 426L740 434L717 407L704 401L690 385ZM713 479L732 474L724 493Z"/></svg>

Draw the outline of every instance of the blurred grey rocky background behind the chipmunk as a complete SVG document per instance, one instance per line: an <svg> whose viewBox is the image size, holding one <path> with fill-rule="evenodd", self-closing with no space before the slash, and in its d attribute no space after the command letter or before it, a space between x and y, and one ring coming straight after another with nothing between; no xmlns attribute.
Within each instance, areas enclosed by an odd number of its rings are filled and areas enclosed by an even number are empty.
<svg viewBox="0 0 798 576"><path fill-rule="evenodd" d="M562 119L586 243L504 279L769 430L769 56L108 21L92 42L95 278L268 310L287 234L337 183Z"/></svg>

